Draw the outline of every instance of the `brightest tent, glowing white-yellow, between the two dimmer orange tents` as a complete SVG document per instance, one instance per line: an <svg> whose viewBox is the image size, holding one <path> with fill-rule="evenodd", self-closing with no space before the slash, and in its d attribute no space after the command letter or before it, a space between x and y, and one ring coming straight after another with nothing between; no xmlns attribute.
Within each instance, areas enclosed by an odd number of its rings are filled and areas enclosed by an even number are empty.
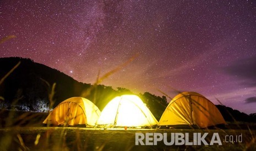
<svg viewBox="0 0 256 151"><path fill-rule="evenodd" d="M102 110L97 125L139 127L157 125L148 107L136 95L113 98Z"/></svg>

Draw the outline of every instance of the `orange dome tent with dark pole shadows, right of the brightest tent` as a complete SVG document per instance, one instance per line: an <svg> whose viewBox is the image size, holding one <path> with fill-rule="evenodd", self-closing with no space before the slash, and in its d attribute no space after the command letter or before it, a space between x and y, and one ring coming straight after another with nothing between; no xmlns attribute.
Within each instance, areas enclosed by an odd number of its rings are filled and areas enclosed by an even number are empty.
<svg viewBox="0 0 256 151"><path fill-rule="evenodd" d="M159 125L197 125L201 128L226 124L219 109L196 92L178 94L168 104Z"/></svg>

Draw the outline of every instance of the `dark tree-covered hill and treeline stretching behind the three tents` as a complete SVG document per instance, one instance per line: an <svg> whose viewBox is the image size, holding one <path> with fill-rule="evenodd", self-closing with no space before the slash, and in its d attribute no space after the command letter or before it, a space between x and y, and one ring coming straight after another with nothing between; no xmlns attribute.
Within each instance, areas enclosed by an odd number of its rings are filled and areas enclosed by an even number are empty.
<svg viewBox="0 0 256 151"><path fill-rule="evenodd" d="M102 111L114 97L133 94L125 88L80 83L57 69L20 57L0 58L0 78L19 61L20 65L0 85L0 109L49 112L50 106L54 108L67 98L81 96L94 102ZM138 96L159 120L168 105L167 98L149 92ZM256 122L256 113L247 115L221 105L217 108L226 121Z"/></svg>

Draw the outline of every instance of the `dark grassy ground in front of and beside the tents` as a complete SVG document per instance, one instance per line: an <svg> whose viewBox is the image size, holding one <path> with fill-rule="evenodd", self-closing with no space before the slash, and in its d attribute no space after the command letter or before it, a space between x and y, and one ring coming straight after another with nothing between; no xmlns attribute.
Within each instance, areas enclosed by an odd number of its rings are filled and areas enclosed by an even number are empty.
<svg viewBox="0 0 256 151"><path fill-rule="evenodd" d="M0 111L0 150L256 150L255 124L229 123L225 129L95 129L46 127L42 125L46 116L47 113ZM207 142L213 133L218 133L221 145L167 146L159 141L157 146L136 146L135 133L167 133L168 142L171 133L189 133L190 142L193 133L209 133ZM238 142L236 137L241 135L242 140Z"/></svg>

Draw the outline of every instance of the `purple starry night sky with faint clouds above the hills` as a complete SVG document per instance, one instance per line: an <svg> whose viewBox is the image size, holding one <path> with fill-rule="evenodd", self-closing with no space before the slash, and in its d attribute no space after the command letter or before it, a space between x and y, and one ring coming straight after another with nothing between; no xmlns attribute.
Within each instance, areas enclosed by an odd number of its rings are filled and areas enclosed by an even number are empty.
<svg viewBox="0 0 256 151"><path fill-rule="evenodd" d="M29 57L79 82L174 97L195 91L256 112L255 1L0 1L0 57ZM216 97L216 98L215 98Z"/></svg>

